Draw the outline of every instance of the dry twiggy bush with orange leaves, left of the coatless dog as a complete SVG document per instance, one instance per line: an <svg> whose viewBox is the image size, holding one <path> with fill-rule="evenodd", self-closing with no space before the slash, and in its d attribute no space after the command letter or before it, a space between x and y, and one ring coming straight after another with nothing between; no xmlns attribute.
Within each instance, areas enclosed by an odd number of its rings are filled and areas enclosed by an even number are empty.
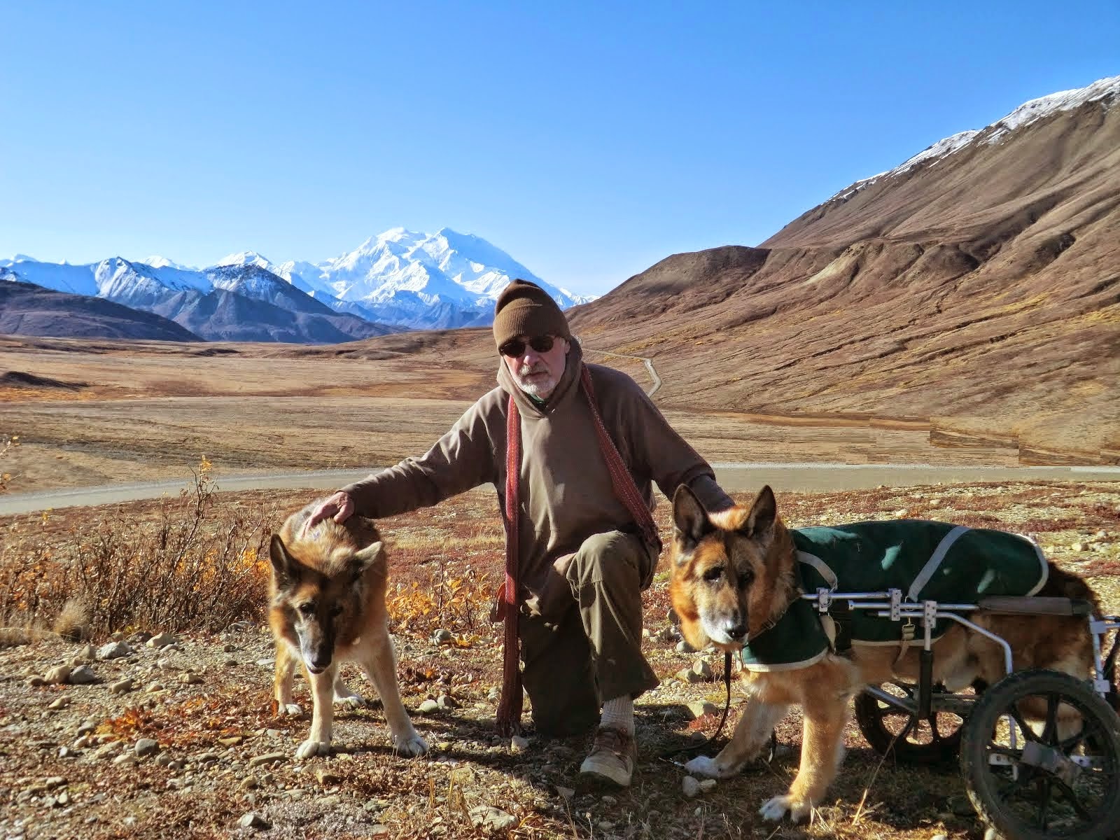
<svg viewBox="0 0 1120 840"><path fill-rule="evenodd" d="M84 608L85 632L216 632L263 614L274 514L216 515L211 464L142 521L103 519L59 548L0 551L0 623L49 626ZM77 606L75 606L77 605Z"/></svg>

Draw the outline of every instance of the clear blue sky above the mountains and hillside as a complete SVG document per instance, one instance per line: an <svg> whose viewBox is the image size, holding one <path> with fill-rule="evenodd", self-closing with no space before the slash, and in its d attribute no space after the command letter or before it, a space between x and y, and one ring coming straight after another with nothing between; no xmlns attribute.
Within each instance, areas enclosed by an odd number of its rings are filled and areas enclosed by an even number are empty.
<svg viewBox="0 0 1120 840"><path fill-rule="evenodd" d="M1120 74L1112 0L317 6L0 0L0 258L447 226L601 293Z"/></svg>

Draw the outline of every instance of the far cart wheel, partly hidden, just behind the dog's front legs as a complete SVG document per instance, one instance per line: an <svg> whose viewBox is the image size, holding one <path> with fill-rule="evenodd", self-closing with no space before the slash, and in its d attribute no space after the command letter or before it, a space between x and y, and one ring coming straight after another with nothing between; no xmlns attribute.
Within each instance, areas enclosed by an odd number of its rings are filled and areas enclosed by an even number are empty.
<svg viewBox="0 0 1120 840"><path fill-rule="evenodd" d="M914 687L907 683L892 683L895 688L913 696ZM944 691L941 685L935 691ZM898 719L899 726L888 729L886 718ZM902 764L935 765L955 762L961 750L961 730L964 721L956 718L954 726L946 728L946 716L933 712L924 721L915 721L914 716L902 709L889 707L878 698L864 692L856 698L856 722L871 748L881 756L894 757ZM897 737L902 730L906 737ZM944 729L944 731L942 731ZM921 740L913 738L921 735Z"/></svg>

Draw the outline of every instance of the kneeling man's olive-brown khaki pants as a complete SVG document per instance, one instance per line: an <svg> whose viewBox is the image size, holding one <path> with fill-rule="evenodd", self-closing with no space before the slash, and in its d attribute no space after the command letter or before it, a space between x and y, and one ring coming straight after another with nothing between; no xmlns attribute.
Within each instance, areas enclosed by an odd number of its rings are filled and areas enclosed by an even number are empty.
<svg viewBox="0 0 1120 840"><path fill-rule="evenodd" d="M585 732L604 701L657 684L642 655L642 591L656 564L641 538L622 531L595 534L558 562L517 623L538 731Z"/></svg>

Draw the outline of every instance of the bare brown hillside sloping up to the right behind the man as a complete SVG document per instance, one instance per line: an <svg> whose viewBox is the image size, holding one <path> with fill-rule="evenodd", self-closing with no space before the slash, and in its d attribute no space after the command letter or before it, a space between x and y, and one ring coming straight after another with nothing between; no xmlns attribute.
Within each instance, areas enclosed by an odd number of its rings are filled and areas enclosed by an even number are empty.
<svg viewBox="0 0 1120 840"><path fill-rule="evenodd" d="M573 327L652 357L669 405L922 416L1027 461L1118 461L1120 106L983 140L762 248L670 256Z"/></svg>

